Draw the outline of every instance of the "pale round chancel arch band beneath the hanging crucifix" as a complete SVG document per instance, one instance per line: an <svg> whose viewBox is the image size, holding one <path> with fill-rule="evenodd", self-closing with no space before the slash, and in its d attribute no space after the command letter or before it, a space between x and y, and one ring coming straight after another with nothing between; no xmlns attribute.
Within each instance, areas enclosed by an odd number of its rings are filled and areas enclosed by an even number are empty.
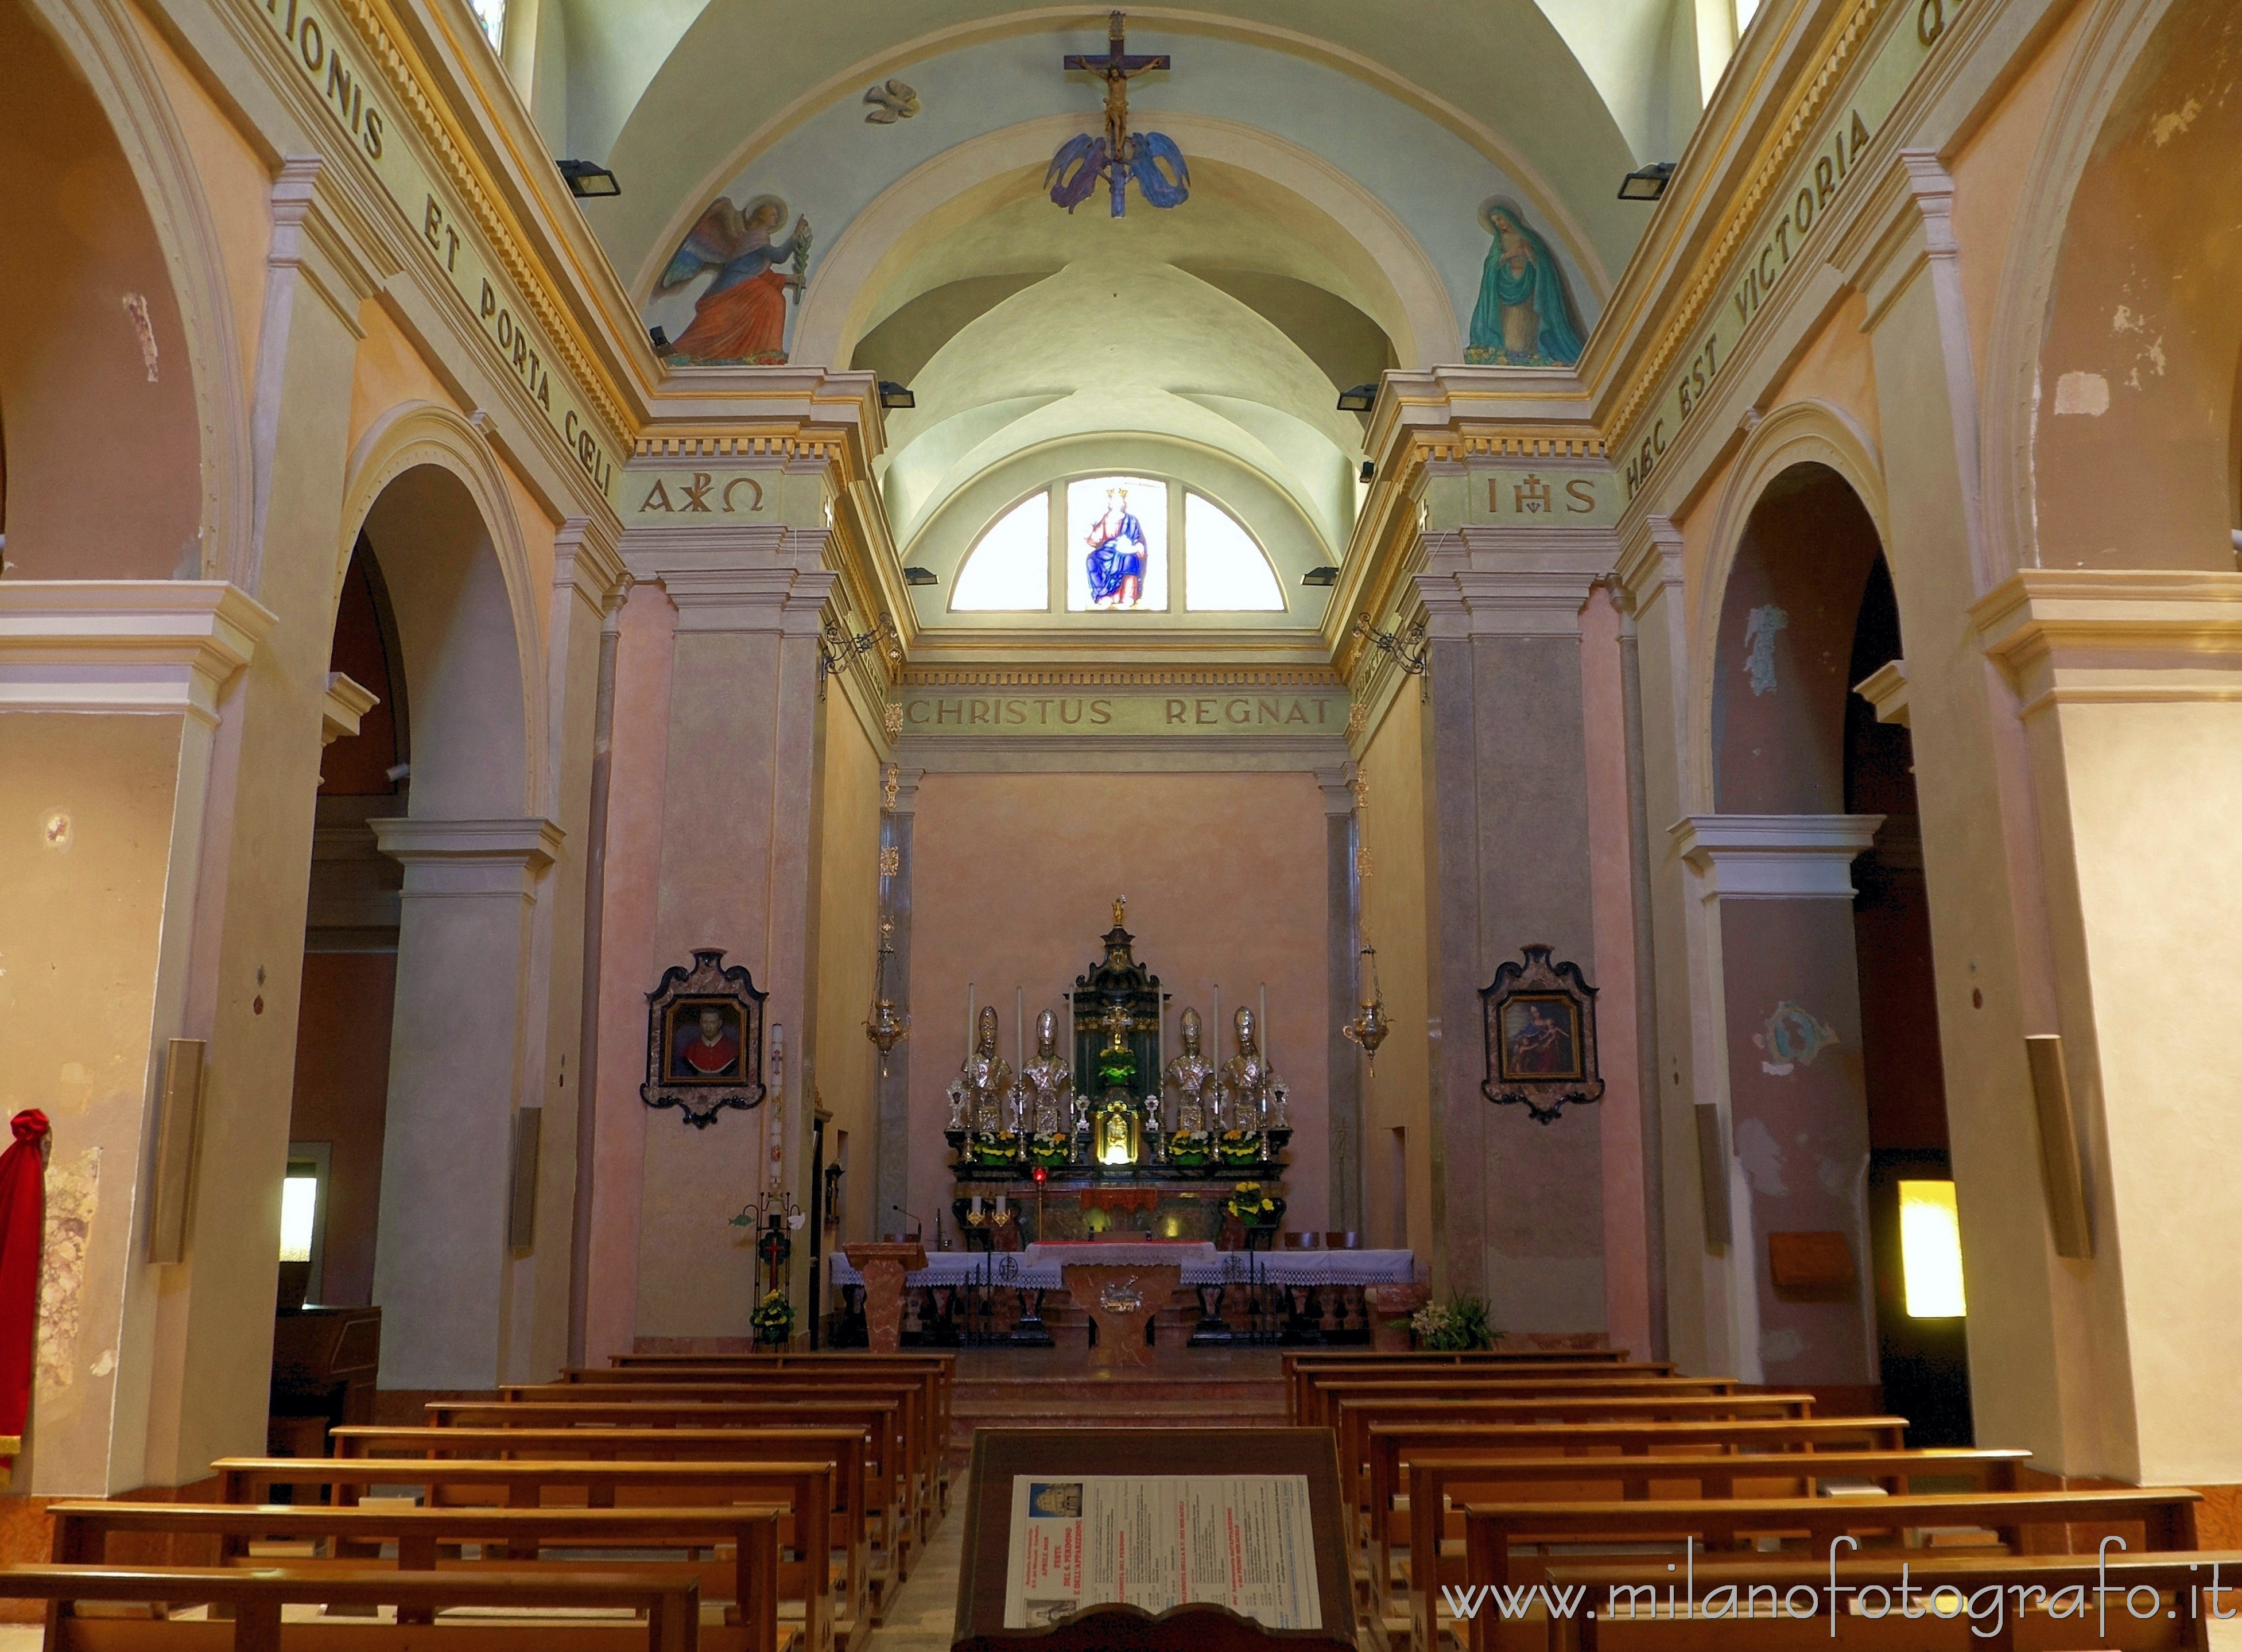
<svg viewBox="0 0 2242 1652"><path fill-rule="evenodd" d="M1193 159L1264 179L1305 226L1332 238L1327 251L1361 282L1363 312L1392 338L1403 365L1462 361L1455 305L1439 269L1374 195L1307 150L1235 121L1164 114ZM1051 150L1078 128L1051 114L957 143L912 168L861 211L825 253L794 332L800 361L847 361L881 294L904 267L960 224L1034 193ZM1022 184L1022 179L1027 179Z"/></svg>

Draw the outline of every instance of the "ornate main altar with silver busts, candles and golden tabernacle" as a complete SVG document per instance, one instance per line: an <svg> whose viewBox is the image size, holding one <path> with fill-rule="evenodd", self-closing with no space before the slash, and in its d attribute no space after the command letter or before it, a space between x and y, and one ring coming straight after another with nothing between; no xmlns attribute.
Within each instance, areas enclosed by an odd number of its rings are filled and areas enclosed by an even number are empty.
<svg viewBox="0 0 2242 1652"><path fill-rule="evenodd" d="M971 1251L1108 1233L1235 1242L1242 1224L1226 1206L1244 1181L1269 1201L1258 1226L1282 1217L1289 1092L1260 1018L1235 1009L1224 1058L1186 1006L1170 1051L1170 995L1137 962L1125 917L1117 899L1103 955L1074 977L1065 1018L1038 1018L1036 1054L1020 1049L1018 1069L1002 1056L995 1006L973 1022L944 1132L951 1215Z"/></svg>

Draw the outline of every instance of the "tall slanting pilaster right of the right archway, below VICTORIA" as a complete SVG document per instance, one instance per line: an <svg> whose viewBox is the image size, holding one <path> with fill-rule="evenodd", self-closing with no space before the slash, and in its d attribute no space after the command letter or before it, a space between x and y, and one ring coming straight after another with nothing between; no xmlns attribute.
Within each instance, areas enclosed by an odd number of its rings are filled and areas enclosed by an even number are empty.
<svg viewBox="0 0 2242 1652"><path fill-rule="evenodd" d="M1881 428L1886 558L1908 659L1908 724L1939 993L1962 1257L1971 1410L1982 1439L2029 1446L2060 1473L2130 1475L2107 1421L2125 1414L2110 1349L2119 1302L2054 1255L2047 1235L2029 1033L2072 1031L2049 910L2065 874L2042 816L2038 753L2013 679L1982 652L1971 605L1995 574L1977 482L1968 309L1960 294L1953 182L1901 155L1834 262L1863 294ZM2090 1132L2085 1132L2090 1134ZM1986 1381L2000 1372L1998 1381Z"/></svg>

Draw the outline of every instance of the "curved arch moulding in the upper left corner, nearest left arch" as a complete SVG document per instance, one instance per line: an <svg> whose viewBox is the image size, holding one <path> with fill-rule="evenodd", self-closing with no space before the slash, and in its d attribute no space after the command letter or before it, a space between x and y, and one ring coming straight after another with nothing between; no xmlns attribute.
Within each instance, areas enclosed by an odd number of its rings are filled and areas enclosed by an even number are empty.
<svg viewBox="0 0 2242 1652"><path fill-rule="evenodd" d="M139 186L157 256L170 276L177 336L157 338L184 356L200 466L193 533L195 576L256 590L251 531L253 464L242 341L233 314L217 226L193 152L161 76L121 0L7 0L20 4L76 69L108 119L110 134ZM159 356L161 359L161 356ZM114 455L94 444L103 462Z"/></svg>

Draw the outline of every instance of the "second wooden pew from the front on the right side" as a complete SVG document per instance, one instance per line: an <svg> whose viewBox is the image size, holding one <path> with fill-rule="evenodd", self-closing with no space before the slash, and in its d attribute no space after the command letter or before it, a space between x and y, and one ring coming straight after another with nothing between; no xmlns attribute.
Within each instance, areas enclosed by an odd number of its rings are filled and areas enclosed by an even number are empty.
<svg viewBox="0 0 2242 1652"><path fill-rule="evenodd" d="M1684 1544L1738 1549L1753 1538L1776 1535L1796 1544L1805 1562L1827 1565L1838 1538L1856 1538L1861 1549L1903 1547L1924 1529L1991 1531L2009 1553L2031 1553L2033 1535L2054 1529L2045 1547L2067 1542L2063 1526L2143 1526L2146 1551L2195 1547L2195 1509L2202 1493L2175 1488L2143 1491L2045 1491L2045 1493L1951 1493L1939 1497L1751 1497L1695 1502L1576 1502L1576 1504L1466 1504L1466 1587L1518 1587L1540 1583L1554 1558L1520 1553L1547 1544L1646 1544L1668 1547L1684 1560ZM1870 1542L1868 1533L1883 1533ZM1935 1553L1935 1551L1933 1551ZM1684 1560L1684 1565L1688 1565ZM1668 1574L1673 1576L1673 1574ZM1733 1634L1733 1632L1731 1632ZM1531 1618L1477 1614L1469 1621L1471 1652L1522 1652L1547 1641L1547 1625Z"/></svg>

